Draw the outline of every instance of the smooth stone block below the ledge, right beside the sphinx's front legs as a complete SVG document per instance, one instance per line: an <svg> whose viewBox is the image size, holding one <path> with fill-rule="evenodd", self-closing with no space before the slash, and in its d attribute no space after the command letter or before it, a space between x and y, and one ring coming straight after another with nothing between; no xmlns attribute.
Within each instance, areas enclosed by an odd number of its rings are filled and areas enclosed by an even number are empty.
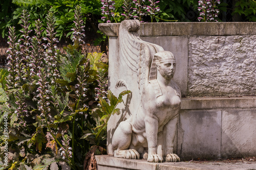
<svg viewBox="0 0 256 170"><path fill-rule="evenodd" d="M221 111L182 110L177 143L181 159L220 157Z"/></svg>

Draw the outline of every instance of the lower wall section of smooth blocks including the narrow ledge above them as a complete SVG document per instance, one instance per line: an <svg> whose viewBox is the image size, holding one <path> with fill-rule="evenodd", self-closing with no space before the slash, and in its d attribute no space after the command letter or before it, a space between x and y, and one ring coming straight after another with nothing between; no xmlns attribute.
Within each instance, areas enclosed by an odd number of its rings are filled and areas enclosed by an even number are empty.
<svg viewBox="0 0 256 170"><path fill-rule="evenodd" d="M256 98L184 99L177 133L182 158L256 155Z"/></svg>

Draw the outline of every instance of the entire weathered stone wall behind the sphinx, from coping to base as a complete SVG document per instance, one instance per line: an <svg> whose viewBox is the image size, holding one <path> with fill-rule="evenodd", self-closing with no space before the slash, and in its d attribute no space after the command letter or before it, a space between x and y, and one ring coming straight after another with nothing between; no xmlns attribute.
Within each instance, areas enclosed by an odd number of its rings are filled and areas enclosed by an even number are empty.
<svg viewBox="0 0 256 170"><path fill-rule="evenodd" d="M113 89L116 70L126 70L119 64L119 23L99 28L110 36L109 88ZM141 24L142 40L176 57L174 80L183 98L175 151L182 159L256 155L255 28L256 22ZM110 155L110 136L121 116L111 116L108 123Z"/></svg>

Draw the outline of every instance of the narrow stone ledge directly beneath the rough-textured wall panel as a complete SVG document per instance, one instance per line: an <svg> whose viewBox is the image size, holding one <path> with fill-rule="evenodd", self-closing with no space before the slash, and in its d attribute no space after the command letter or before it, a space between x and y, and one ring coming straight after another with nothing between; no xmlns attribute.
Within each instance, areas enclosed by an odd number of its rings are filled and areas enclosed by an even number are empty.
<svg viewBox="0 0 256 170"><path fill-rule="evenodd" d="M241 98L182 98L181 109L256 108L256 96Z"/></svg>

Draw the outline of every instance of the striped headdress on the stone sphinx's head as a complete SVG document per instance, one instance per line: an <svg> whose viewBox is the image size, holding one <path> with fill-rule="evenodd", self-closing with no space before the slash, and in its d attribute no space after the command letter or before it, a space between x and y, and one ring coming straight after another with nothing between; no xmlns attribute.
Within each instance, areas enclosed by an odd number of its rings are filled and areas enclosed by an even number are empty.
<svg viewBox="0 0 256 170"><path fill-rule="evenodd" d="M152 86L155 89L157 97L162 95L161 88L156 80L157 78L157 63L162 63L166 61L176 61L173 53L169 51L160 51L157 52L152 60L151 68L150 68L150 76L148 78L148 81L152 83Z"/></svg>

